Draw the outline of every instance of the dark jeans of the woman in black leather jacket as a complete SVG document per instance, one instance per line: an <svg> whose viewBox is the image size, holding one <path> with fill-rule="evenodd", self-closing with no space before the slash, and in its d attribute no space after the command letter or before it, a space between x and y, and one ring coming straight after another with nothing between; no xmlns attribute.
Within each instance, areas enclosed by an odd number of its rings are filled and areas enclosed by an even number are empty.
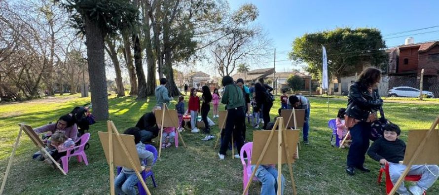
<svg viewBox="0 0 439 195"><path fill-rule="evenodd" d="M349 129L352 142L346 161L347 166L362 167L365 163L366 152L369 148L369 136L372 127L370 122L358 122Z"/></svg>

